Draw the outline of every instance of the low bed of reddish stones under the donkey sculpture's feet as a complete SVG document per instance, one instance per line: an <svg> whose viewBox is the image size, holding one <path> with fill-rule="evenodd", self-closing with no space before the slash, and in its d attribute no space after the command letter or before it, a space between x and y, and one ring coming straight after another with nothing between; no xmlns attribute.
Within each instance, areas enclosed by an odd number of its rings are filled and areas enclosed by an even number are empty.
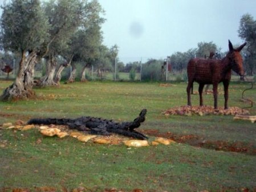
<svg viewBox="0 0 256 192"><path fill-rule="evenodd" d="M180 106L167 109L163 112L164 115L250 115L249 111L246 109L241 109L239 107L229 107L229 109L224 109L224 107L219 107L218 109L214 109L211 106Z"/></svg>

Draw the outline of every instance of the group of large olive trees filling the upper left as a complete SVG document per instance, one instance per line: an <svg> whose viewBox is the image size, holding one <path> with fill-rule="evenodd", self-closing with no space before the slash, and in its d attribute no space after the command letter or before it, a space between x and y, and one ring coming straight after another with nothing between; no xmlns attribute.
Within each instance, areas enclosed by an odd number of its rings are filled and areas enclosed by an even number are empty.
<svg viewBox="0 0 256 192"><path fill-rule="evenodd" d="M34 95L34 68L41 59L46 61L46 73L37 85L49 86L58 85L63 68L70 65L74 76L73 62L99 58L105 19L97 0L12 0L1 8L1 47L21 55L17 77L3 91L2 101ZM59 67L58 58L66 61Z"/></svg>

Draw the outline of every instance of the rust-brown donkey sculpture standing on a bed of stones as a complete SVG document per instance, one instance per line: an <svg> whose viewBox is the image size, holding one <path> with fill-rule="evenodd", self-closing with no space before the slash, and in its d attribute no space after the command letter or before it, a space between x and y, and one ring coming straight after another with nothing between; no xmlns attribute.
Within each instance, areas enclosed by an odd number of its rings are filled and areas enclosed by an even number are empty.
<svg viewBox="0 0 256 192"><path fill-rule="evenodd" d="M243 59L239 53L246 43L243 43L238 48L233 48L232 43L229 40L229 52L223 59L202 59L194 58L190 59L187 67L188 72L188 87L186 92L188 94L188 105L191 106L190 89L193 86L193 82L199 83L198 92L200 95L200 106L203 105L202 91L205 84L213 84L213 96L214 96L214 109L218 108L218 84L224 84L224 98L225 109L227 109L227 100L229 99L229 81L231 78L231 70L240 75L241 80L245 75L243 71Z"/></svg>

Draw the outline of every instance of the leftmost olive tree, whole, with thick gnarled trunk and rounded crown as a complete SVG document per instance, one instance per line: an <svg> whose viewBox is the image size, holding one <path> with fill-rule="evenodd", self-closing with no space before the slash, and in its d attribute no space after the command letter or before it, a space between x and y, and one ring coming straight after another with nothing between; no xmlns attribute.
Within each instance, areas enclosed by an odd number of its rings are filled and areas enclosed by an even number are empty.
<svg viewBox="0 0 256 192"><path fill-rule="evenodd" d="M34 94L34 66L47 52L50 24L39 0L12 0L1 8L2 46L7 51L19 52L21 60L14 83L3 91L0 99L27 98Z"/></svg>

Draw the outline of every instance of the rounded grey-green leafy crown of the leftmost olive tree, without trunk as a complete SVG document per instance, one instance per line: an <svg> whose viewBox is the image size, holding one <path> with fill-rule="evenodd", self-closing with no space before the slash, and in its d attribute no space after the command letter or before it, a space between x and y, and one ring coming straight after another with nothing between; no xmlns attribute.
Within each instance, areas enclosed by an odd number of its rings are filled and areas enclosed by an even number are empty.
<svg viewBox="0 0 256 192"><path fill-rule="evenodd" d="M40 50L48 38L46 14L39 0L13 0L2 6L1 42L10 51ZM22 17L21 17L22 16Z"/></svg>

